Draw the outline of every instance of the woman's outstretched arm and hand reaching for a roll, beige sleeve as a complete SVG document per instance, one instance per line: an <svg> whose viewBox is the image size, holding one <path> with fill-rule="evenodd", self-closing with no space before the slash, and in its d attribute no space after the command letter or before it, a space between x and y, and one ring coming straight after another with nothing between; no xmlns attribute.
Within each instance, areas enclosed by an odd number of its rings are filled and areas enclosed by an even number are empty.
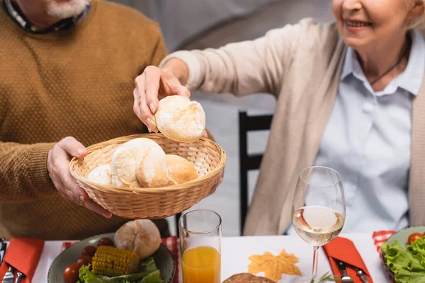
<svg viewBox="0 0 425 283"><path fill-rule="evenodd" d="M298 48L307 48L303 54L308 55L309 48L315 48L322 37L314 27L317 24L312 19L305 19L297 25L271 30L257 40L217 50L174 52L162 60L159 68L148 66L137 76L133 110L149 131L157 132L154 113L159 100L166 96L190 97L190 91L200 90L237 96L266 92L277 97Z"/></svg>

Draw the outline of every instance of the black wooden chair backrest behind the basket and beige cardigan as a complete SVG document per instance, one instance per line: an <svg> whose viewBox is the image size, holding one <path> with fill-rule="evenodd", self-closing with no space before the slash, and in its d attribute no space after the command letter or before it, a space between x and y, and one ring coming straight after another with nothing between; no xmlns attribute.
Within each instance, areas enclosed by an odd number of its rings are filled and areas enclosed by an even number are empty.
<svg viewBox="0 0 425 283"><path fill-rule="evenodd" d="M244 231L248 212L248 172L260 168L263 154L248 154L248 132L270 129L273 115L249 116L239 111L239 200L240 229Z"/></svg>

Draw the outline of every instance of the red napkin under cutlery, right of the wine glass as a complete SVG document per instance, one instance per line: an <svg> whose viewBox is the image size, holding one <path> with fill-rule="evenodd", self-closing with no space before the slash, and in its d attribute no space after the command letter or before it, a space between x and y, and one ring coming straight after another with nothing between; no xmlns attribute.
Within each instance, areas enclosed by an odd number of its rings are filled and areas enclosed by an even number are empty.
<svg viewBox="0 0 425 283"><path fill-rule="evenodd" d="M365 262L361 258L361 255L358 253L356 246L354 243L348 238L336 237L334 241L331 241L327 245L323 246L325 253L329 258L329 262L331 263L332 272L334 275L341 276L341 272L339 272L338 265L334 261L341 260L345 262L346 270L348 275L353 279L353 282L362 283L360 277L356 275L356 270L353 270L349 265L353 265L355 267L361 268L368 277L368 282L372 283L372 278L370 277L370 273L368 268L366 268Z"/></svg>

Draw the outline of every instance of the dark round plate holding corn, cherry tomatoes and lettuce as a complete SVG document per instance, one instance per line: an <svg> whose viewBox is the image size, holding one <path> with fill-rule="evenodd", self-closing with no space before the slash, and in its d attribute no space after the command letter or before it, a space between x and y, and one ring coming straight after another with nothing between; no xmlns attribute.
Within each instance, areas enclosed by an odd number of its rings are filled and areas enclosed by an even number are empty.
<svg viewBox="0 0 425 283"><path fill-rule="evenodd" d="M161 244L148 258L115 248L114 233L75 243L50 266L48 283L170 283L176 270L171 251Z"/></svg>

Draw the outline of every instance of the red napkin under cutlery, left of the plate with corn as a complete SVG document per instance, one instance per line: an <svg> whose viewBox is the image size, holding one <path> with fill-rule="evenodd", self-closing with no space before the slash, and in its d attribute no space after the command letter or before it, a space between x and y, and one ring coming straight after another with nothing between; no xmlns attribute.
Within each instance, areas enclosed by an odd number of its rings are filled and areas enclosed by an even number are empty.
<svg viewBox="0 0 425 283"><path fill-rule="evenodd" d="M11 238L6 249L6 255L0 266L0 279L8 271L8 266L15 267L16 272L20 271L25 277L22 283L30 283L33 279L35 268L44 248L45 241L35 238Z"/></svg>

